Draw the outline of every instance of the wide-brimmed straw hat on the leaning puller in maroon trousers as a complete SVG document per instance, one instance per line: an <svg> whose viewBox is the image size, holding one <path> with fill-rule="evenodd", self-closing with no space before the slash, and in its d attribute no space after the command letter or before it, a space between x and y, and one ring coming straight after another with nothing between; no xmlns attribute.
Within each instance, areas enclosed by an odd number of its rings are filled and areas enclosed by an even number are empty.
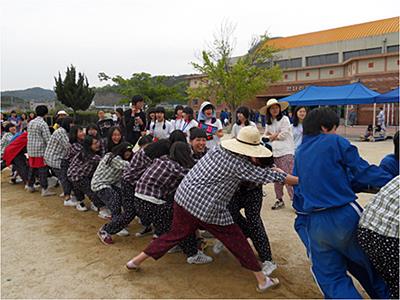
<svg viewBox="0 0 400 300"><path fill-rule="evenodd" d="M260 143L260 133L254 126L243 127L235 139L224 140L221 146L229 151L250 157L271 157L272 152Z"/></svg>

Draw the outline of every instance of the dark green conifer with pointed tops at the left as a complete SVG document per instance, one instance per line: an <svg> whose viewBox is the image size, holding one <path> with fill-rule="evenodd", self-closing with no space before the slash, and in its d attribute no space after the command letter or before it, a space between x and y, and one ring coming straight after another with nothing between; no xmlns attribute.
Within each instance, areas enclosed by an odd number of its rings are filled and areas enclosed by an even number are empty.
<svg viewBox="0 0 400 300"><path fill-rule="evenodd" d="M78 110L87 110L92 103L95 92L89 87L87 77L83 73L78 73L76 80L76 69L73 65L67 67L64 80L58 72L58 79L54 77L54 91L57 99L65 106L74 111L74 115Z"/></svg>

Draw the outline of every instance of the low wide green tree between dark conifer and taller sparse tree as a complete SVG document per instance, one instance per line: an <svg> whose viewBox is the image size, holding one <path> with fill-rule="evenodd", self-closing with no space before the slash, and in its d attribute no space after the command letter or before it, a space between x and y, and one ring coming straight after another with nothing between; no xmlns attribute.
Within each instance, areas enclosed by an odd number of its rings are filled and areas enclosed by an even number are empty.
<svg viewBox="0 0 400 300"><path fill-rule="evenodd" d="M134 73L131 78L123 78L115 76L111 78L105 73L98 75L101 81L111 79L115 85L108 86L117 93L120 93L127 98L123 101L128 103L133 95L142 95L147 103L157 104L163 101L175 100L181 102L186 99L186 84L185 82L176 82L171 80L173 77L168 76L151 76L148 73Z"/></svg>

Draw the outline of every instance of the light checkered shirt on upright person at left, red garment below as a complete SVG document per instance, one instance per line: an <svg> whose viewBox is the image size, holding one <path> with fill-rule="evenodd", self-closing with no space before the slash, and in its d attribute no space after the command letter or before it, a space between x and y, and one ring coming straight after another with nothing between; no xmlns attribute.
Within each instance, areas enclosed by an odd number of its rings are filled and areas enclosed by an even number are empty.
<svg viewBox="0 0 400 300"><path fill-rule="evenodd" d="M49 126L42 117L36 117L28 124L27 152L30 157L43 157L51 137Z"/></svg>

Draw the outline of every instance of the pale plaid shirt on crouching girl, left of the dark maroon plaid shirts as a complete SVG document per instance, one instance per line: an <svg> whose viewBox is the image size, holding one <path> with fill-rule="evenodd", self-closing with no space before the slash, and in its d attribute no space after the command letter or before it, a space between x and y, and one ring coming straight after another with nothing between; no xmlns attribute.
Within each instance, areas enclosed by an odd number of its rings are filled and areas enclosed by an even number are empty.
<svg viewBox="0 0 400 300"><path fill-rule="evenodd" d="M93 192L98 192L105 188L111 188L112 185L118 184L122 177L125 167L129 166L129 162L123 160L119 156L115 156L109 164L106 164L108 158L112 155L107 153L100 161L99 166L94 172L91 188Z"/></svg>

